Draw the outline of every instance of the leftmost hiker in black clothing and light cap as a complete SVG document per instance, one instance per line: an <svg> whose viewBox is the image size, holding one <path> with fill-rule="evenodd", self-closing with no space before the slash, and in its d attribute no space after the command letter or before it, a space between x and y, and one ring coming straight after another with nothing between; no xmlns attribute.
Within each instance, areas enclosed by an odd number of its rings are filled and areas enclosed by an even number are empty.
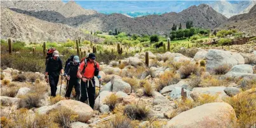
<svg viewBox="0 0 256 128"><path fill-rule="evenodd" d="M48 58L46 62L45 80L50 83L51 96L56 96L58 78L60 75L64 75L64 69L62 68L62 60L59 58L58 51L55 50L52 57Z"/></svg>

